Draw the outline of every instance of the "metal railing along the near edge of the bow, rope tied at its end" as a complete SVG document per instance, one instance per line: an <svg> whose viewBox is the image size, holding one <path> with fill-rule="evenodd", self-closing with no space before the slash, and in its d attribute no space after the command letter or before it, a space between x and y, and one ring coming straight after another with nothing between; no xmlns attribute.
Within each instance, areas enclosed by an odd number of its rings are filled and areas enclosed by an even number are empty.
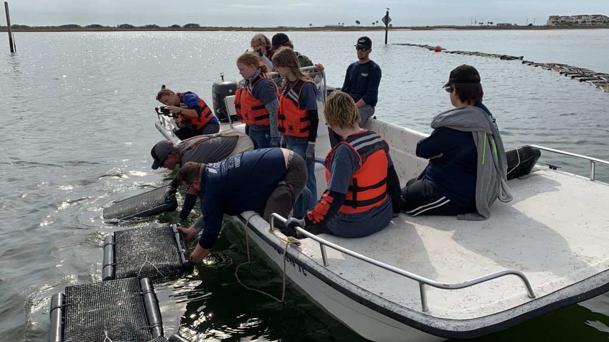
<svg viewBox="0 0 609 342"><path fill-rule="evenodd" d="M275 220L280 220L280 222L282 222L284 224L286 223L286 218L283 218L283 217L281 217L281 215L273 213L270 215L271 229L275 229ZM419 276L418 274L414 274L409 271L402 270L401 268L397 268L392 265L387 265L387 263L380 262L378 260L364 256L357 252L348 250L347 248L336 245L335 243L329 242L328 240L322 239L314 234L311 234L310 232L306 231L305 229L303 229L301 227L296 227L296 230L298 232L300 232L300 234L303 234L304 236L308 237L309 239L315 240L315 242L319 243L320 249L322 251L323 265L325 267L329 266L328 254L326 253L326 246L328 246L329 248L332 248L333 250L339 251L341 253L345 253L349 256L352 256L352 257L355 257L364 262L370 263L371 265L375 265L375 266L383 268L387 271L391 271L393 273L400 274L401 276L410 278L410 279L418 282L419 291L420 291L420 295L421 295L421 309L423 310L423 312L426 312L429 310L425 285L429 285L429 286L436 287L436 288L442 288L444 290L457 290L459 288L470 287L472 285L480 284L481 282L490 281L492 279L502 277L502 276L507 276L510 274L519 277L519 279L523 282L524 288L526 288L527 296L529 296L529 298L535 298L535 292L533 292L533 288L531 287L529 279L527 279L527 277L524 275L524 273L522 273L521 271L518 271L518 270L496 271L496 272L486 274L481 277L476 277L474 279L470 279L470 280L464 281L464 282L455 282L455 283L437 282L437 281L428 279L426 277Z"/></svg>

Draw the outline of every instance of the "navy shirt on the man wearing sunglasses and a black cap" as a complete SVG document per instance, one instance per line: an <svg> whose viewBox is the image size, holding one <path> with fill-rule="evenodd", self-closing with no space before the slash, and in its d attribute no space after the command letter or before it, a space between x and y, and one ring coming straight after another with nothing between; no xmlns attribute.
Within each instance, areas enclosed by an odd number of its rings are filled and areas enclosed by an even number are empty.
<svg viewBox="0 0 609 342"><path fill-rule="evenodd" d="M351 63L345 74L342 91L347 92L355 102L363 99L367 105L376 106L381 83L381 67L374 61Z"/></svg>

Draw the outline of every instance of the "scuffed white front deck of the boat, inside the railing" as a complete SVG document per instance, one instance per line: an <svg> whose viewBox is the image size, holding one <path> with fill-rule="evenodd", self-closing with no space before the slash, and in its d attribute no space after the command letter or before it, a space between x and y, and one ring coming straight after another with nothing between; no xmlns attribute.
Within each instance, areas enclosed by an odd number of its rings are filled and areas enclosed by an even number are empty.
<svg viewBox="0 0 609 342"><path fill-rule="evenodd" d="M609 210L599 210L597 205L609 203L607 184L538 168L510 180L509 185L514 199L510 203L496 201L486 221L401 214L387 228L362 239L329 234L320 237L439 282L463 282L506 268L520 270L539 300L528 298L520 279L509 275L460 290L426 286L429 311L422 312L416 281L331 248L327 249L327 269L384 299L382 305L388 309L409 311L406 316L418 312L430 318L459 320L481 318L526 303L530 305L523 311L533 310L555 302L557 298L548 296L551 293L598 273L588 279L590 289L608 282ZM585 220L577 219L582 217ZM323 265L319 243L311 239L302 242L303 254ZM585 291L577 289L577 293ZM559 296L569 295L563 291Z"/></svg>

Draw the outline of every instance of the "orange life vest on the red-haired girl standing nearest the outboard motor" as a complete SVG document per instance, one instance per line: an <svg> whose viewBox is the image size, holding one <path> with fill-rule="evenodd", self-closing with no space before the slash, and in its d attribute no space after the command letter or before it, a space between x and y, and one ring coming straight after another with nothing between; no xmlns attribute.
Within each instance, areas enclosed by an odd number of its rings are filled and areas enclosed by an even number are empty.
<svg viewBox="0 0 609 342"><path fill-rule="evenodd" d="M234 94L234 109L237 112L239 121L244 124L270 125L269 111L266 109L266 106L264 106L262 100L256 99L256 97L253 96L256 84L265 79L269 80L264 72L259 72L252 82L242 88L238 88ZM277 85L272 80L269 81L275 86L277 97L279 97Z"/></svg>

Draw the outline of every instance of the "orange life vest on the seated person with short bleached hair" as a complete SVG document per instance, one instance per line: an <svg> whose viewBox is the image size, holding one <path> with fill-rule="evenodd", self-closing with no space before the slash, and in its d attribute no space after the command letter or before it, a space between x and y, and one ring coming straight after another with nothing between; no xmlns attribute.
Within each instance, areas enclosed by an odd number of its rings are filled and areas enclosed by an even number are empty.
<svg viewBox="0 0 609 342"><path fill-rule="evenodd" d="M326 155L326 182L330 179L330 162L336 148L345 144L359 157L359 169L351 176L347 199L340 207L343 214L356 214L380 206L387 199L387 153L389 144L372 130L351 134Z"/></svg>

